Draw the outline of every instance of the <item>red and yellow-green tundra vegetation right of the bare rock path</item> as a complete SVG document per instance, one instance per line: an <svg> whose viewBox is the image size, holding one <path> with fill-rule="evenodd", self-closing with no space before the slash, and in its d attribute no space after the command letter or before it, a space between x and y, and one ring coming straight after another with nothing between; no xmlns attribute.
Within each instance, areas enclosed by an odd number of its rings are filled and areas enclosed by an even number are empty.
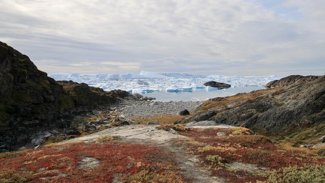
<svg viewBox="0 0 325 183"><path fill-rule="evenodd" d="M223 132L226 136L217 136ZM212 174L226 182L256 182L267 179L263 171L283 167L324 165L325 158L302 151L285 149L262 135L248 135L245 128L209 128L180 131L190 140L177 140L189 154L198 155Z"/></svg>

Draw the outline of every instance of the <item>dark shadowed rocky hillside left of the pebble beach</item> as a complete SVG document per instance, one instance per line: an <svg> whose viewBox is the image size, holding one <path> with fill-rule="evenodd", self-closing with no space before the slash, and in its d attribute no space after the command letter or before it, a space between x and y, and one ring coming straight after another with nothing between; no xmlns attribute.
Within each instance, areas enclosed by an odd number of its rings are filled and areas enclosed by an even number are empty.
<svg viewBox="0 0 325 183"><path fill-rule="evenodd" d="M125 91L110 93L84 83L56 82L37 69L28 56L0 42L0 151L16 149L43 129L66 128L67 115L110 106Z"/></svg>

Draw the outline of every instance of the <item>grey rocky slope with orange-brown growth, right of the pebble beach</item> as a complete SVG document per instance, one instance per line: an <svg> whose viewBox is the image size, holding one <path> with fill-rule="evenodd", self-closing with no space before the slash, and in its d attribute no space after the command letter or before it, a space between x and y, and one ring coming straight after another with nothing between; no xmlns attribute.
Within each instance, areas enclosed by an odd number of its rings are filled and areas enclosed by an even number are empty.
<svg viewBox="0 0 325 183"><path fill-rule="evenodd" d="M181 121L216 123L279 132L325 123L325 76L289 76L278 86L204 102L201 113Z"/></svg>

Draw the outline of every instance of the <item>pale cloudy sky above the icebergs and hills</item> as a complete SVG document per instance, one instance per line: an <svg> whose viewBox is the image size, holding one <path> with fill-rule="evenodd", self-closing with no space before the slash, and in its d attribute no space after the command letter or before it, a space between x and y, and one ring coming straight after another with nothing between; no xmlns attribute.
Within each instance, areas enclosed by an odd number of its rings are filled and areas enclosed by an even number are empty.
<svg viewBox="0 0 325 183"><path fill-rule="evenodd" d="M324 0L0 0L48 73L325 74Z"/></svg>

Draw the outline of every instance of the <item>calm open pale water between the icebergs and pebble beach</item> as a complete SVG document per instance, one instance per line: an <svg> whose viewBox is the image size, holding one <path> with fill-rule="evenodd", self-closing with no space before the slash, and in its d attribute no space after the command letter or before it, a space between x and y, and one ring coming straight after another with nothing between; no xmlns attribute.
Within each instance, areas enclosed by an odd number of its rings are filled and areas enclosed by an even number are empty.
<svg viewBox="0 0 325 183"><path fill-rule="evenodd" d="M143 94L147 97L156 98L155 101L169 102L169 101L204 101L216 97L227 97L233 96L238 93L249 93L257 89L266 89L264 86L236 86L227 89L219 90L206 90L196 89L192 92L179 92L179 93L168 93L166 90L161 90L160 92L153 92Z"/></svg>

